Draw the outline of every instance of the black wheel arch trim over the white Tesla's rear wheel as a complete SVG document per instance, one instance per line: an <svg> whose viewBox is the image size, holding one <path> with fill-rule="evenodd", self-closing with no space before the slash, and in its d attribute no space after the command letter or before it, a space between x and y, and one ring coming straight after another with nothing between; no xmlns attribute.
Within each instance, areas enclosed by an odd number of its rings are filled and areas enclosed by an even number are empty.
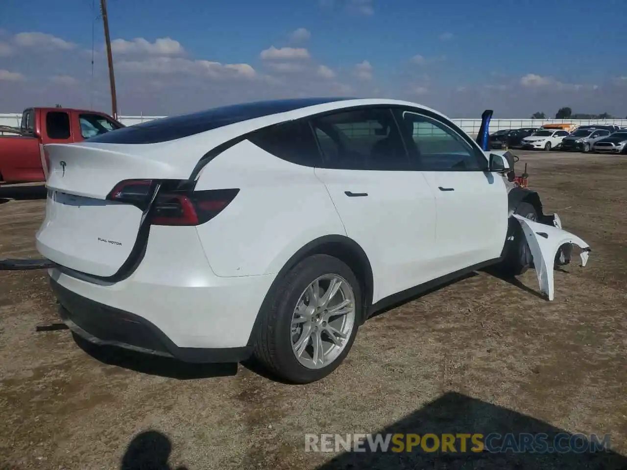
<svg viewBox="0 0 627 470"><path fill-rule="evenodd" d="M277 276L261 303L261 308L257 313L255 324L248 338L248 345L251 345L256 337L256 332L262 320L261 316L266 310L273 292L278 288L282 279L290 269L300 263L300 261L314 254L328 254L329 256L334 256L334 258L340 259L352 269L357 279L362 283L362 315L361 318L358 319L359 325L366 321L367 312L372 303L372 295L374 293L374 275L366 252L352 238L344 235L325 235L310 241L305 244L305 246L298 249L278 271Z"/></svg>

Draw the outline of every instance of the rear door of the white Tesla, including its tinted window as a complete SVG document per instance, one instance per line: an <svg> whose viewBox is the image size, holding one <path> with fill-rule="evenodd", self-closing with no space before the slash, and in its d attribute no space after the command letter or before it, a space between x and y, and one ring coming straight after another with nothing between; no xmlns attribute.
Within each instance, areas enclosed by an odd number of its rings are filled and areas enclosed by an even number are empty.
<svg viewBox="0 0 627 470"><path fill-rule="evenodd" d="M435 196L423 174L410 169L391 109L361 107L310 122L324 158L315 174L347 236L366 252L373 301L435 278Z"/></svg>

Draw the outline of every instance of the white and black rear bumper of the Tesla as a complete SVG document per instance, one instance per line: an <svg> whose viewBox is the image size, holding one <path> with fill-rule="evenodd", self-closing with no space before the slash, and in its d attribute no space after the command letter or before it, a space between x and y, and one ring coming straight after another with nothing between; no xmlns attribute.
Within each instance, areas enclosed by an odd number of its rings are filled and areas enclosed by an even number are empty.
<svg viewBox="0 0 627 470"><path fill-rule="evenodd" d="M62 315L78 334L83 330L93 342L165 352L182 360L193 356L187 348L248 346L276 276L216 276L195 227L157 226L152 227L142 262L122 281L107 283L60 266L49 273ZM212 362L229 352L197 353ZM240 354L233 353L235 358Z"/></svg>

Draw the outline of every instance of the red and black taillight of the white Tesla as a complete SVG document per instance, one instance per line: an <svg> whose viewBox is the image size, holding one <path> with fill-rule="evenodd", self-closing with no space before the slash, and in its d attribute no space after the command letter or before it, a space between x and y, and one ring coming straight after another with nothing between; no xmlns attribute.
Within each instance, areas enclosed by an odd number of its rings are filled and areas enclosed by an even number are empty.
<svg viewBox="0 0 627 470"><path fill-rule="evenodd" d="M157 191L152 204L150 201ZM239 189L193 191L180 180L125 180L107 196L110 201L132 204L148 212L152 225L200 225L217 216L233 201Z"/></svg>

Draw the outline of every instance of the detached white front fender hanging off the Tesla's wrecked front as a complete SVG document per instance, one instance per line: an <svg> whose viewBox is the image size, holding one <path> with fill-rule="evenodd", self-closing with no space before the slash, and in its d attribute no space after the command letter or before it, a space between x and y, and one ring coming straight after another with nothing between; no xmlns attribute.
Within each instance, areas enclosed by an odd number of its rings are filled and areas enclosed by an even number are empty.
<svg viewBox="0 0 627 470"><path fill-rule="evenodd" d="M549 300L554 299L553 288L553 269L555 268L556 256L562 246L567 245L567 251L569 252L571 244L576 244L581 248L581 266L586 266L588 254L591 251L590 246L576 235L562 229L561 221L557 214L554 216L554 226L540 224L538 222L530 221L521 217L518 214L514 214L514 217L520 222L522 231L529 244L531 256L534 259L535 273L538 276L538 283L540 285L540 291L549 297ZM564 253L562 253L564 256ZM562 260L564 261L564 260Z"/></svg>

